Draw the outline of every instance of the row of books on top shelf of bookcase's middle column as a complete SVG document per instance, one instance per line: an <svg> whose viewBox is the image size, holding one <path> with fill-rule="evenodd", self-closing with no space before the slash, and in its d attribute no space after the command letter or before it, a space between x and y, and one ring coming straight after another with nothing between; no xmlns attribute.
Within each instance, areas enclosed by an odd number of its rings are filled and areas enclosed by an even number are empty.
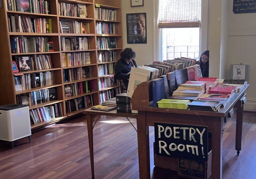
<svg viewBox="0 0 256 179"><path fill-rule="evenodd" d="M82 4L69 4L64 2L59 2L59 15L69 16L69 17L81 17L87 18L87 7Z"/></svg>

